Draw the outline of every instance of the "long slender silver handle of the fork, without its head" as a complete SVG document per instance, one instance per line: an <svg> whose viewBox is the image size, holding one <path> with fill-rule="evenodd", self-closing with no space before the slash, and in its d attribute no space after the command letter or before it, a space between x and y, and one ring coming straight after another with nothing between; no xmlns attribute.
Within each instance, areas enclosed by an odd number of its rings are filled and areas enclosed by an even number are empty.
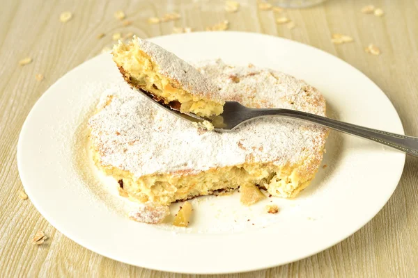
<svg viewBox="0 0 418 278"><path fill-rule="evenodd" d="M329 127L330 129L335 129L343 133L348 133L379 142L380 144L399 149L402 152L418 157L418 138L416 137L380 131L378 129L369 129L364 126L348 124L346 122L332 120L327 117L321 117L311 113L289 109L252 109L251 112L251 114L254 113L253 115L256 115L256 117L280 115L284 117L292 117L300 120L305 120L308 122L314 122L316 124Z"/></svg>

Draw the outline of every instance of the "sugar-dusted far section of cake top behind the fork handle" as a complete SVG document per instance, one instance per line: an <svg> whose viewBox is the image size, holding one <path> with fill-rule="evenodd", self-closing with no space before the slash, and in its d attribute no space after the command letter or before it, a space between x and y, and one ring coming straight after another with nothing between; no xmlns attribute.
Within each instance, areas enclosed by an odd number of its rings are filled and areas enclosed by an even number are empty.
<svg viewBox="0 0 418 278"><path fill-rule="evenodd" d="M287 108L325 116L325 99L304 81L275 70L233 67L222 60L206 60L194 65L220 88L229 100L255 108Z"/></svg>

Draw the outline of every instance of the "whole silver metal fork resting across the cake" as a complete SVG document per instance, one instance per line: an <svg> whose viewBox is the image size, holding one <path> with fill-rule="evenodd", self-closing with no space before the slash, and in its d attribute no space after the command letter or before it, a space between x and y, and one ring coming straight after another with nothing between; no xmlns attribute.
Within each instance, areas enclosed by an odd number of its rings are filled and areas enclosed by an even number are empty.
<svg viewBox="0 0 418 278"><path fill-rule="evenodd" d="M315 114L295 111L291 109L248 108L242 106L237 101L226 101L224 105L224 112L219 116L209 118L199 117L192 113L180 113L180 111L177 111L175 108L165 105L162 101L158 101L158 99L155 99L153 95L149 95L148 92L145 92L144 90L139 91L146 95L146 97L150 98L155 104L160 105L161 107L167 109L168 111L170 111L174 115L177 115L178 117L182 117L183 119L192 122L203 122L205 120L211 122L215 128L215 131L231 131L240 124L243 124L245 122L248 122L249 120L253 120L259 117L291 117L307 122L314 122L316 124L320 124L321 126L325 126L336 131L341 131L343 133L348 133L351 135L359 136L361 138L373 140L375 142L379 142L380 144L401 150L406 154L418 157L418 138L412 136L404 136L401 134L380 131L377 129L369 129L364 126L348 124L346 122L340 122L327 117L321 117Z"/></svg>

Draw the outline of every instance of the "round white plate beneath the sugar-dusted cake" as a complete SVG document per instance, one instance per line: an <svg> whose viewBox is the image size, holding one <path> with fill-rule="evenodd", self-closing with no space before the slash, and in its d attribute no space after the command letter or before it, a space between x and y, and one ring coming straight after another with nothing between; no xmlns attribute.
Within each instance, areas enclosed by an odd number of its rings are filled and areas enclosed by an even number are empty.
<svg viewBox="0 0 418 278"><path fill-rule="evenodd" d="M236 32L152 41L186 60L222 58L292 74L323 92L331 117L403 133L394 107L372 81L313 47ZM113 179L98 174L85 147L86 119L110 86L128 90L109 54L65 74L24 122L17 161L26 193L40 213L65 236L111 259L189 273L242 272L289 263L361 228L385 205L401 177L405 154L332 132L323 161L328 167L320 168L311 186L294 200L269 198L244 208L237 195L203 197L193 201L194 221L188 229L137 223L125 215L132 204L117 195ZM279 205L277 215L265 213L270 201Z"/></svg>

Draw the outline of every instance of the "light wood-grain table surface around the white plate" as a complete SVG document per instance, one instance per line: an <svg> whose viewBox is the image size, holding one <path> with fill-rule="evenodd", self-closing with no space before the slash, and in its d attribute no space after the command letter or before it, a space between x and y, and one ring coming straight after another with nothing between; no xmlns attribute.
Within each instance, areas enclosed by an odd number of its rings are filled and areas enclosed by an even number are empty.
<svg viewBox="0 0 418 278"><path fill-rule="evenodd" d="M237 13L225 13L224 1L3 1L0 11L0 273L3 277L169 277L119 263L95 254L65 238L22 200L16 163L21 126L31 107L65 72L110 47L112 34L132 32L149 38L172 33L173 26L204 30L224 19L230 30L267 33L323 49L357 67L376 82L401 116L405 133L418 136L418 1L329 0L304 10L286 10L295 22L289 29L275 23L281 17L260 11L256 1L242 3ZM70 3L74 2L74 3ZM385 15L365 15L366 4ZM59 15L69 10L69 22ZM114 17L124 10L132 25ZM148 24L148 17L176 11L176 22ZM98 39L99 33L104 33ZM332 44L333 33L353 37L348 44ZM380 56L364 51L376 44ZM22 58L33 58L21 66ZM36 74L45 79L36 80ZM378 215L353 236L334 247L277 268L227 277L417 277L418 275L418 159L406 159L394 195ZM355 206L355 203L353 203ZM38 229L49 240L31 245ZM183 277L183 275L174 275ZM187 275L184 275L187 277Z"/></svg>

